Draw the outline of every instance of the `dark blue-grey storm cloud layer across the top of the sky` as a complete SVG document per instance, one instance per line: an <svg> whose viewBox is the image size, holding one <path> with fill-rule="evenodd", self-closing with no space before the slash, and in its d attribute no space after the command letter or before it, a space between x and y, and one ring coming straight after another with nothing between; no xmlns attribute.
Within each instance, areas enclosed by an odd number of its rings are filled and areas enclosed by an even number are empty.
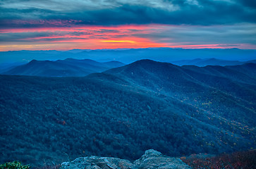
<svg viewBox="0 0 256 169"><path fill-rule="evenodd" d="M0 21L2 28L149 23L227 25L256 23L255 4L252 0L1 1Z"/></svg>

